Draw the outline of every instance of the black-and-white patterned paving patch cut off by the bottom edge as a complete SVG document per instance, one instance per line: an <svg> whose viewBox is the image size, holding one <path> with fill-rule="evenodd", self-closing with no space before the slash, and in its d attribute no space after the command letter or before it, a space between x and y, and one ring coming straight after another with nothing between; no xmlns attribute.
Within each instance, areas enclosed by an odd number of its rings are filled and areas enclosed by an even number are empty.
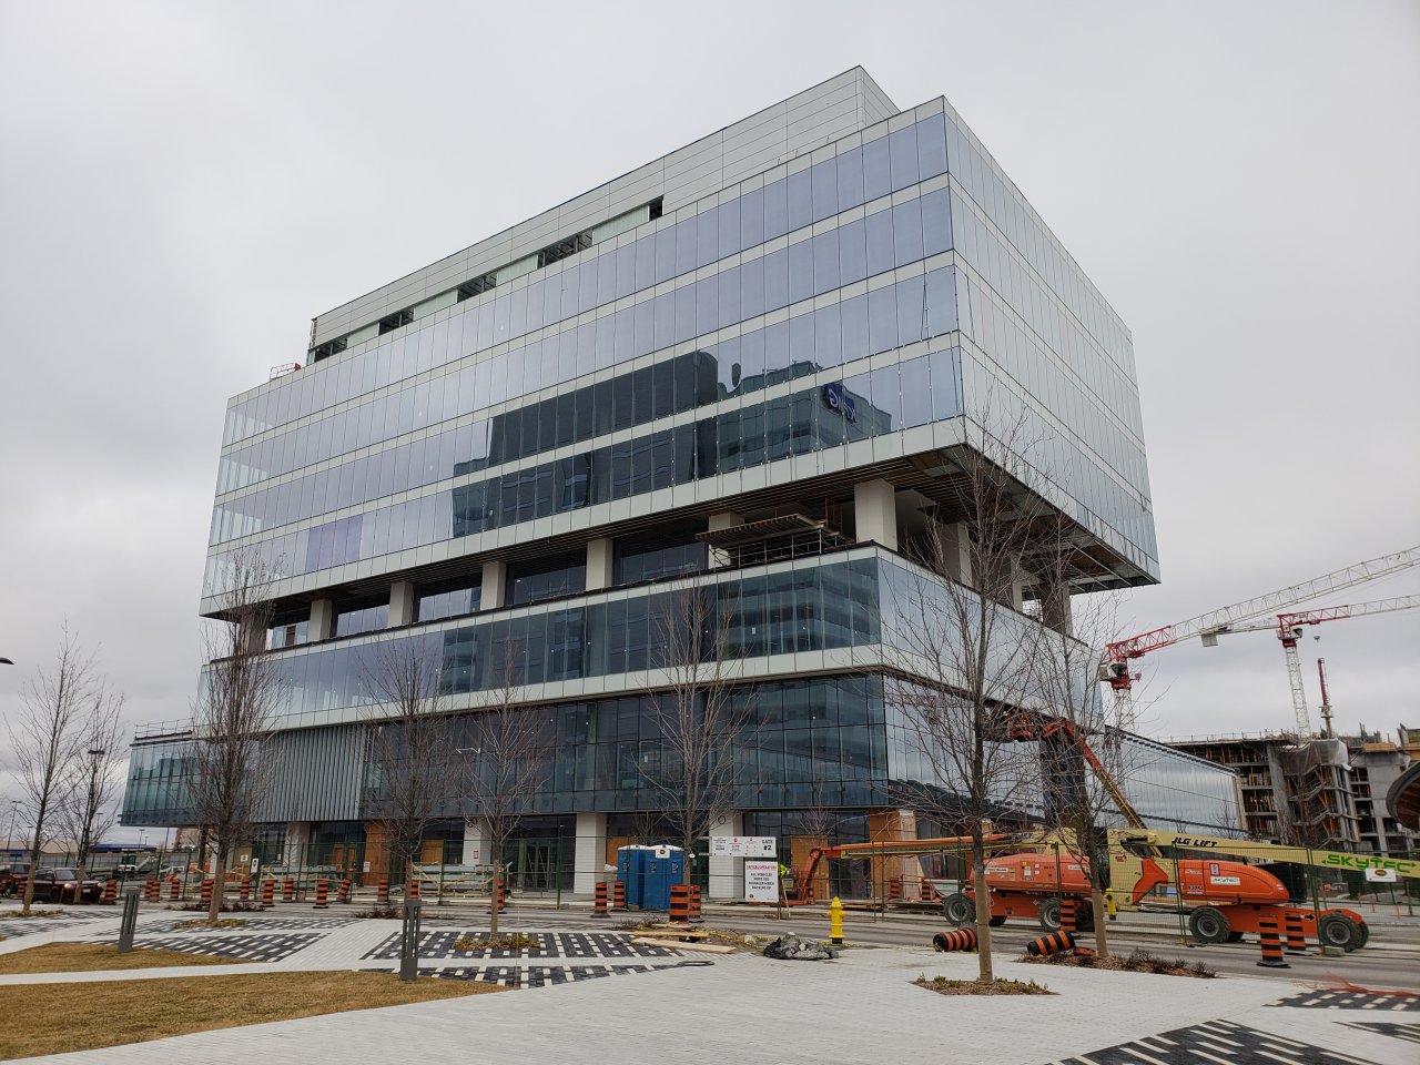
<svg viewBox="0 0 1420 1065"><path fill-rule="evenodd" d="M1203 1062L1282 1062L1282 1065L1370 1065L1296 1039L1284 1039L1233 1021L1207 1021L1162 1035L1122 1042L1055 1065L1201 1065Z"/></svg>

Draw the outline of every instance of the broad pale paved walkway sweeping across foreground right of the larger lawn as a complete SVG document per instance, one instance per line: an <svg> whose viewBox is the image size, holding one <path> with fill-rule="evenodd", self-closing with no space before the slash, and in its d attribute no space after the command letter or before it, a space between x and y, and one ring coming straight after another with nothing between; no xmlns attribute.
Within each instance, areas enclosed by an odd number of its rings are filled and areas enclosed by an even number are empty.
<svg viewBox="0 0 1420 1065"><path fill-rule="evenodd" d="M927 951L862 950L828 963L726 956L713 966L672 968L632 980L591 980L545 993L314 1017L37 1061L136 1065L160 1055L166 1061L204 1065L247 1061L310 1065L337 1058L351 1065L388 1065L396 1059L1044 1065L1216 1021L1312 1048L1281 1061L1328 1065L1414 1061L1411 1045L1340 1024L1376 1021L1376 1012L1268 1005L1296 990L1291 981L1096 973L1004 958L997 968L1001 976L1045 983L1058 995L932 994L910 981L919 974L968 978L976 973L976 960ZM1387 1015L1387 1020L1411 1017L1416 1014ZM1231 1042L1237 1045L1235 1039ZM1163 1052L1159 1048L1154 1054ZM1319 1051L1326 1055L1318 1056ZM1214 1056L1214 1061L1267 1058Z"/></svg>

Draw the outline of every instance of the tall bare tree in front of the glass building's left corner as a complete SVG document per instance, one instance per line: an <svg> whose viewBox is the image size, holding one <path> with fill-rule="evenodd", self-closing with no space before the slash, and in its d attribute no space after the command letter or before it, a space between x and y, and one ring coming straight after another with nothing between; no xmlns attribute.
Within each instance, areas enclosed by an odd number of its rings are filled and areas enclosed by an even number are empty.
<svg viewBox="0 0 1420 1065"><path fill-rule="evenodd" d="M271 578L256 554L237 552L220 621L204 633L209 662L192 714L192 802L216 859L212 922L222 914L227 862L251 838L270 791L263 743L281 697L281 676L266 653Z"/></svg>

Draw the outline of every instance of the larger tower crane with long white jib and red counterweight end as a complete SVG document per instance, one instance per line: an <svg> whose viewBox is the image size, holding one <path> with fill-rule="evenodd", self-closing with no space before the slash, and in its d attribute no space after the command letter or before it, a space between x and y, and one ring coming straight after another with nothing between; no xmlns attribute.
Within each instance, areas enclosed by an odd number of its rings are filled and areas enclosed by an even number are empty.
<svg viewBox="0 0 1420 1065"><path fill-rule="evenodd" d="M1396 551L1390 555L1380 555L1379 558L1372 558L1366 562L1356 562L1331 574L1312 578L1311 581L1291 585L1289 588L1279 588L1278 591L1268 592L1267 595L1258 595L1252 599L1244 599L1242 602L1233 604L1231 606L1200 613L1197 618L1190 618L1189 621L1177 622L1176 625L1164 625L1163 628L1150 629L1149 632L1142 632L1137 636L1129 636L1127 639L1115 640L1113 643L1106 645L1105 659L1099 666L1099 679L1108 683L1115 693L1115 719L1126 728L1133 724L1133 699L1130 696L1130 689L1137 677L1132 676L1129 672L1129 663L1132 660L1142 659L1152 650L1160 650L1163 648L1173 646L1174 643L1181 643L1186 639L1193 639L1194 636L1203 638L1204 645L1213 646L1218 636L1230 632L1245 632L1248 630L1245 626L1247 622L1254 622L1264 615L1272 613L1278 608L1294 606L1296 604L1306 602L1308 599L1316 599L1322 595L1339 592L1345 588L1365 584L1366 581L1375 581L1379 577L1387 577L1390 574L1409 569L1413 565L1420 565L1420 545L1406 548L1404 551ZM1353 608L1338 606L1331 609ZM1308 611L1304 613L1323 612L1325 611ZM1321 621L1329 621L1329 618L1304 623L1316 625ZM1274 623L1277 622L1268 621L1262 628L1272 628ZM1301 672L1298 670L1296 689L1299 687ZM1305 714L1305 707L1302 713Z"/></svg>

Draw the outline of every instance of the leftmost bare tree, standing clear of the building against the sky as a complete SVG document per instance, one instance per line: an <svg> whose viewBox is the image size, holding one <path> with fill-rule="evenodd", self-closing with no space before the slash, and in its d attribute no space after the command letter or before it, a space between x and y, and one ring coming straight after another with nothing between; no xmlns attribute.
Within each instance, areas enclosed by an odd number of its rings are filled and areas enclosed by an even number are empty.
<svg viewBox="0 0 1420 1065"><path fill-rule="evenodd" d="M41 670L38 679L26 687L23 710L6 723L20 794L34 825L21 913L30 913L34 905L34 870L40 863L40 851L51 838L58 799L84 750L85 721L106 700L94 655L84 652L78 636L64 625L54 669Z"/></svg>

